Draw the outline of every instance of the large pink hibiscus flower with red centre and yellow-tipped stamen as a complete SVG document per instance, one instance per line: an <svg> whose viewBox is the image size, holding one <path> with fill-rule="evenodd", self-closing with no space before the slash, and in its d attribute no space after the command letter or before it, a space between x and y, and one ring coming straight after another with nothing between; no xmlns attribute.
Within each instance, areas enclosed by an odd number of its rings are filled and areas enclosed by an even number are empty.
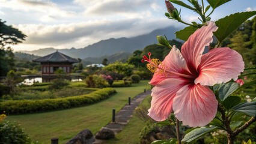
<svg viewBox="0 0 256 144"><path fill-rule="evenodd" d="M228 47L215 48L203 55L205 46L213 41L214 22L197 29L181 47L175 46L157 67L150 84L151 107L148 115L156 121L164 121L172 111L183 125L198 127L209 124L215 118L218 101L209 88L216 83L237 80L244 69L242 56Z"/></svg>

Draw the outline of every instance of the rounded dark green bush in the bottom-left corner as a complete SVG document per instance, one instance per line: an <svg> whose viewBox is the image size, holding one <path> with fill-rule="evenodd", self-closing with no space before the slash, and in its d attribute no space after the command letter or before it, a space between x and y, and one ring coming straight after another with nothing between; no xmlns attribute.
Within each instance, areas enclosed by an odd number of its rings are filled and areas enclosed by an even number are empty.
<svg viewBox="0 0 256 144"><path fill-rule="evenodd" d="M0 122L0 142L11 144L30 144L31 139L16 122Z"/></svg>

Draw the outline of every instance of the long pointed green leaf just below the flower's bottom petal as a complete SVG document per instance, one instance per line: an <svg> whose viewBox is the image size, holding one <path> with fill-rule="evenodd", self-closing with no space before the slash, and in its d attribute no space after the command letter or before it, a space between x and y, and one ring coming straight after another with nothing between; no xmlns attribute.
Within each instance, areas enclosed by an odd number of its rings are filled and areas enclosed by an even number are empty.
<svg viewBox="0 0 256 144"><path fill-rule="evenodd" d="M217 127L201 127L196 128L195 130L190 131L190 133L186 134L184 138L181 140L182 142L192 142L193 140L204 136L204 134L209 133L210 131L215 130Z"/></svg>

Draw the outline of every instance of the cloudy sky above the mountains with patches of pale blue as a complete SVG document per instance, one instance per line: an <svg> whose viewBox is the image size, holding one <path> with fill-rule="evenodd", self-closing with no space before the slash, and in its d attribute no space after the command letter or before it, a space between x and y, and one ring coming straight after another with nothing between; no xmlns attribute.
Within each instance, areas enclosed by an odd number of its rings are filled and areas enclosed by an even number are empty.
<svg viewBox="0 0 256 144"><path fill-rule="evenodd" d="M256 10L255 0L232 0L216 8L212 20L252 10ZM184 28L167 19L165 12L164 0L0 0L0 19L28 35L22 44L13 46L14 51L82 48L100 40L135 37L171 25ZM197 21L197 15L184 8L181 18Z"/></svg>

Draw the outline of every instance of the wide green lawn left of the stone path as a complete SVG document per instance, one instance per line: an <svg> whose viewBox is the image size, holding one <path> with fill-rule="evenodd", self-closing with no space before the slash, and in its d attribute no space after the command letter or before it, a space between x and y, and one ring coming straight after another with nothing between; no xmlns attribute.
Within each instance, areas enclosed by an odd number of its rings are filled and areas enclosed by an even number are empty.
<svg viewBox="0 0 256 144"><path fill-rule="evenodd" d="M120 110L128 100L150 89L148 80L126 88L115 88L117 94L90 106L77 107L46 113L7 116L7 120L19 121L32 140L50 143L53 137L59 138L59 143L66 143L84 129L94 134L111 121L112 109Z"/></svg>

